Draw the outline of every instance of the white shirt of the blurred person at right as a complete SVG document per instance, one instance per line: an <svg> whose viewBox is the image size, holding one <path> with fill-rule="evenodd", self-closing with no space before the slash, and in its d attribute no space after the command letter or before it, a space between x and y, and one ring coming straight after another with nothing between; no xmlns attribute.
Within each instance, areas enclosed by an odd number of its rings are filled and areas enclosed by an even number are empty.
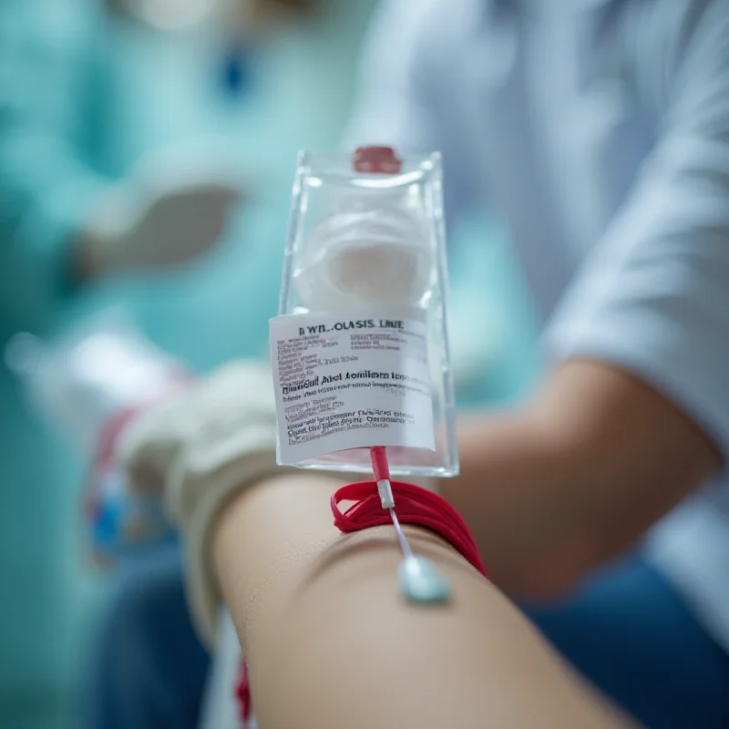
<svg viewBox="0 0 729 729"><path fill-rule="evenodd" d="M345 139L440 149L449 217L506 215L551 352L642 376L729 455L729 3L389 0ZM646 549L729 648L726 482Z"/></svg>

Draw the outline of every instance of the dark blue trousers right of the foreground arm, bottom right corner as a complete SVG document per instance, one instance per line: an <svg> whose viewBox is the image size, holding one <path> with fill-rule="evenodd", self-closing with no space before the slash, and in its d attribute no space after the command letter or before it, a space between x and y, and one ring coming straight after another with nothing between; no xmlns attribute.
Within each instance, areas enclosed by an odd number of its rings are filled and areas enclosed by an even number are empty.
<svg viewBox="0 0 729 729"><path fill-rule="evenodd" d="M560 604L526 611L580 673L648 729L729 726L729 655L640 557L601 570Z"/></svg>

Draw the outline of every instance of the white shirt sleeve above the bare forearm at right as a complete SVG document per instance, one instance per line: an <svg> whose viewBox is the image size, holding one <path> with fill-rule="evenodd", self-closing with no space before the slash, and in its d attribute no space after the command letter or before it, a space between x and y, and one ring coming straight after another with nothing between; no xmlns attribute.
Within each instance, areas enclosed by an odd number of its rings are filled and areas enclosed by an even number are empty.
<svg viewBox="0 0 729 729"><path fill-rule="evenodd" d="M631 65L661 139L547 344L638 375L729 457L729 4L659 5L633 28Z"/></svg>

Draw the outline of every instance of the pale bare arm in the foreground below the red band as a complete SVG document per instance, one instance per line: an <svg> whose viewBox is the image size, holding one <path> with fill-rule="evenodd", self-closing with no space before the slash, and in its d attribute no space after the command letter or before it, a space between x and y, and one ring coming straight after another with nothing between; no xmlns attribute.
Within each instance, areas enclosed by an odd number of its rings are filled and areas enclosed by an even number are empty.
<svg viewBox="0 0 729 729"><path fill-rule="evenodd" d="M213 533L262 729L631 725L422 529L407 528L411 544L447 575L455 599L407 604L394 531L340 534L333 488L323 477L274 477L231 500Z"/></svg>

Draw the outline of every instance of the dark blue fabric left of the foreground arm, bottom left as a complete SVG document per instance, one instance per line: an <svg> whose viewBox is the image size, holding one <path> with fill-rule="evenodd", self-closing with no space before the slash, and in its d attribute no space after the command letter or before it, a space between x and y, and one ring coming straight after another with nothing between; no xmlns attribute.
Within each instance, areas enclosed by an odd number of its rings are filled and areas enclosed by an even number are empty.
<svg viewBox="0 0 729 729"><path fill-rule="evenodd" d="M196 729L210 658L185 602L180 548L121 581L87 681L88 729Z"/></svg>

